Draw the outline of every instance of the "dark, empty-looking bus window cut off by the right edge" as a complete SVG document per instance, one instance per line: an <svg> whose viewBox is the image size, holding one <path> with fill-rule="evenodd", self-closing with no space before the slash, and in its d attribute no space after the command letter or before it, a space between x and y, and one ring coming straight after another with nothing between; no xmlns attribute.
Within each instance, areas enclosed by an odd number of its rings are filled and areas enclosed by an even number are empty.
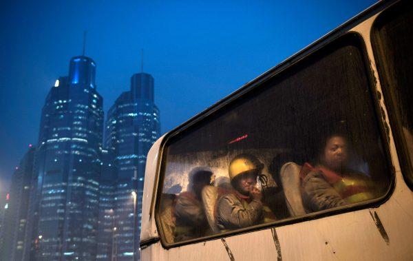
<svg viewBox="0 0 413 261"><path fill-rule="evenodd" d="M374 22L372 43L407 184L413 189L413 7L402 1Z"/></svg>

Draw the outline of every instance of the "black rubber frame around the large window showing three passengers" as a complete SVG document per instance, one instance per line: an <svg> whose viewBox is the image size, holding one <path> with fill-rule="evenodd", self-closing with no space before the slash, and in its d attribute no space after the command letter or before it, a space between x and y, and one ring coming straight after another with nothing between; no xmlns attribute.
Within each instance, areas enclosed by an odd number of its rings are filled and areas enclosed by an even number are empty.
<svg viewBox="0 0 413 261"><path fill-rule="evenodd" d="M251 227L246 227L242 229L234 229L231 231L216 233L211 236L204 236L200 238L194 238L191 240L184 240L184 241L173 242L173 243L166 242L165 237L163 236L165 232L162 230L162 226L160 225L161 221L160 221L160 216L158 215L158 213L160 211L160 198L162 195L163 182L165 178L165 167L166 167L165 152L166 152L167 143L169 142L169 140L171 140L172 138L176 136L179 136L180 134L182 134L182 132L186 132L187 130L190 130L192 127L196 126L197 123L208 120L209 117L214 116L216 112L220 112L222 109L226 109L226 107L228 107L232 103L235 103L240 98L247 96L248 94L251 94L251 92L253 92L257 87L262 86L264 83L273 79L273 77L282 76L282 74L284 74L291 67L294 67L295 65L297 65L297 63L300 63L304 59L308 59L308 57L317 55L318 52L322 52L324 48L326 48L326 46L330 44L334 44L336 41L340 41L341 39L345 37L351 37L351 36L357 37L357 41L359 41L360 43L360 48L361 48L360 52L361 52L361 55L363 56L362 59L364 60L363 65L365 66L365 70L366 70L366 76L367 76L367 81L368 81L368 87L370 90L370 96L374 104L374 116L376 117L375 121L377 122L377 125L378 125L377 127L379 128L379 138L381 138L381 143L383 145L383 156L386 161L385 164L388 167L388 177L390 180L390 184L388 185L388 190L385 192L385 194L383 194L383 196L379 198L374 198L373 200L366 200L364 202L352 204L350 205L350 207L342 206L342 207L336 207L333 209L326 209L323 211L316 211L313 213L308 213L305 216L285 218L283 220L277 220L275 222L268 222L268 223L264 223L260 225L253 225ZM156 168L156 176L157 176L156 184L155 184L156 202L153 202L155 204L154 206L155 211L153 215L155 217L156 227L158 229L158 236L160 238L160 243L162 244L162 247L164 249L171 249L171 248L180 247L183 245L195 244L195 243L204 242L207 240L217 240L223 237L236 236L236 235L240 235L243 233L251 233L255 231L269 229L272 227L281 227L285 225L291 225L291 224L304 222L308 220L325 218L327 216L335 216L341 213L348 213L351 211L368 209L370 207L379 207L380 205L382 205L384 202L386 202L390 198L390 196L392 195L394 191L395 172L394 172L394 166L392 164L392 157L390 154L390 145L389 145L390 140L388 139L387 132L385 131L386 123L384 120L382 108L381 108L380 101L377 95L374 95L374 94L377 94L377 88L376 88L377 85L375 84L375 78L374 78L374 75L372 74L372 68L370 65L370 60L368 58L368 52L366 50L366 41L364 41L361 34L359 34L358 32L351 31L351 30L346 30L344 32L341 32L337 36L330 36L323 40L324 41L322 41L320 45L318 45L313 50L310 50L310 52L304 52L304 51L299 52L297 56L294 56L289 61L286 61L286 64L283 63L282 65L284 66L277 66L273 68L272 70L269 70L266 74L263 74L262 76L258 77L251 83L247 83L246 85L241 87L240 90L237 90L233 94L226 96L224 99L222 99L221 101L218 101L218 103L215 103L209 109L205 110L204 112L201 112L200 114L197 114L196 116L191 118L189 121L183 123L176 129L173 129L171 132L169 132L165 136L165 138L162 140L162 143L160 145L160 154L159 154L160 156L158 158L158 163L157 163L158 165Z"/></svg>

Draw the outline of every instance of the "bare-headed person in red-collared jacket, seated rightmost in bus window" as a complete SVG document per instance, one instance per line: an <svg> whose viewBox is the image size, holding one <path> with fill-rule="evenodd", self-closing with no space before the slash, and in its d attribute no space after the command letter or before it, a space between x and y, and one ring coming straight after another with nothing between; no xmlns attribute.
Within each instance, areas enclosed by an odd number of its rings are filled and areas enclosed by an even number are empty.
<svg viewBox="0 0 413 261"><path fill-rule="evenodd" d="M304 205L309 211L339 207L374 198L368 176L348 168L348 140L328 136L319 149L318 163L305 163L300 171Z"/></svg>

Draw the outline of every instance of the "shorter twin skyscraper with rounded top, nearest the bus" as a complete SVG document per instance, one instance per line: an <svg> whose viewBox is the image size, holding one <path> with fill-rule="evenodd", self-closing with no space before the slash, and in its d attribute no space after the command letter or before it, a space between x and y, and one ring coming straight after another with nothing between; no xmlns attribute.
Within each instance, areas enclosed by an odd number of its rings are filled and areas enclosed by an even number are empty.
<svg viewBox="0 0 413 261"><path fill-rule="evenodd" d="M153 77L143 72L134 74L130 90L120 94L109 109L105 127L105 147L112 153L116 168L114 255L117 260L133 260L138 249L146 158L159 135Z"/></svg>

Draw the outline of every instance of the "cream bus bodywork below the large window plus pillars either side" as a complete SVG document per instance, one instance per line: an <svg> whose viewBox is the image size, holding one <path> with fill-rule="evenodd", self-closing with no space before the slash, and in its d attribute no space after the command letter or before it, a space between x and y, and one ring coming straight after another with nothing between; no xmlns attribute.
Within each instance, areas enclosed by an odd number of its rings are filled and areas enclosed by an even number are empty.
<svg viewBox="0 0 413 261"><path fill-rule="evenodd" d="M395 175L390 198L375 208L165 249L158 240L153 217L158 182L156 168L163 136L148 154L141 240L153 239L153 243L142 247L142 260L413 260L413 192L403 179L370 42L372 23L378 15L347 32L357 32L365 41L375 78L374 91L381 94L378 95L383 113L381 121L388 127L386 138ZM152 198L152 195L155 196Z"/></svg>

